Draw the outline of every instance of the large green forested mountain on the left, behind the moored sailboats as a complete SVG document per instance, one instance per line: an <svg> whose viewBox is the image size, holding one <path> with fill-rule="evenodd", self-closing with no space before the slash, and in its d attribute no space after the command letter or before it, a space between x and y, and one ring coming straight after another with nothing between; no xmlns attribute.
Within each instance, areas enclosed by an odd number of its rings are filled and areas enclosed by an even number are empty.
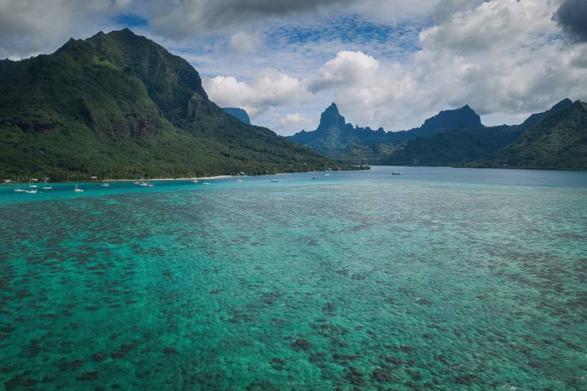
<svg viewBox="0 0 587 391"><path fill-rule="evenodd" d="M132 31L0 61L0 175L55 180L307 171L327 159L208 100L186 60Z"/></svg>

